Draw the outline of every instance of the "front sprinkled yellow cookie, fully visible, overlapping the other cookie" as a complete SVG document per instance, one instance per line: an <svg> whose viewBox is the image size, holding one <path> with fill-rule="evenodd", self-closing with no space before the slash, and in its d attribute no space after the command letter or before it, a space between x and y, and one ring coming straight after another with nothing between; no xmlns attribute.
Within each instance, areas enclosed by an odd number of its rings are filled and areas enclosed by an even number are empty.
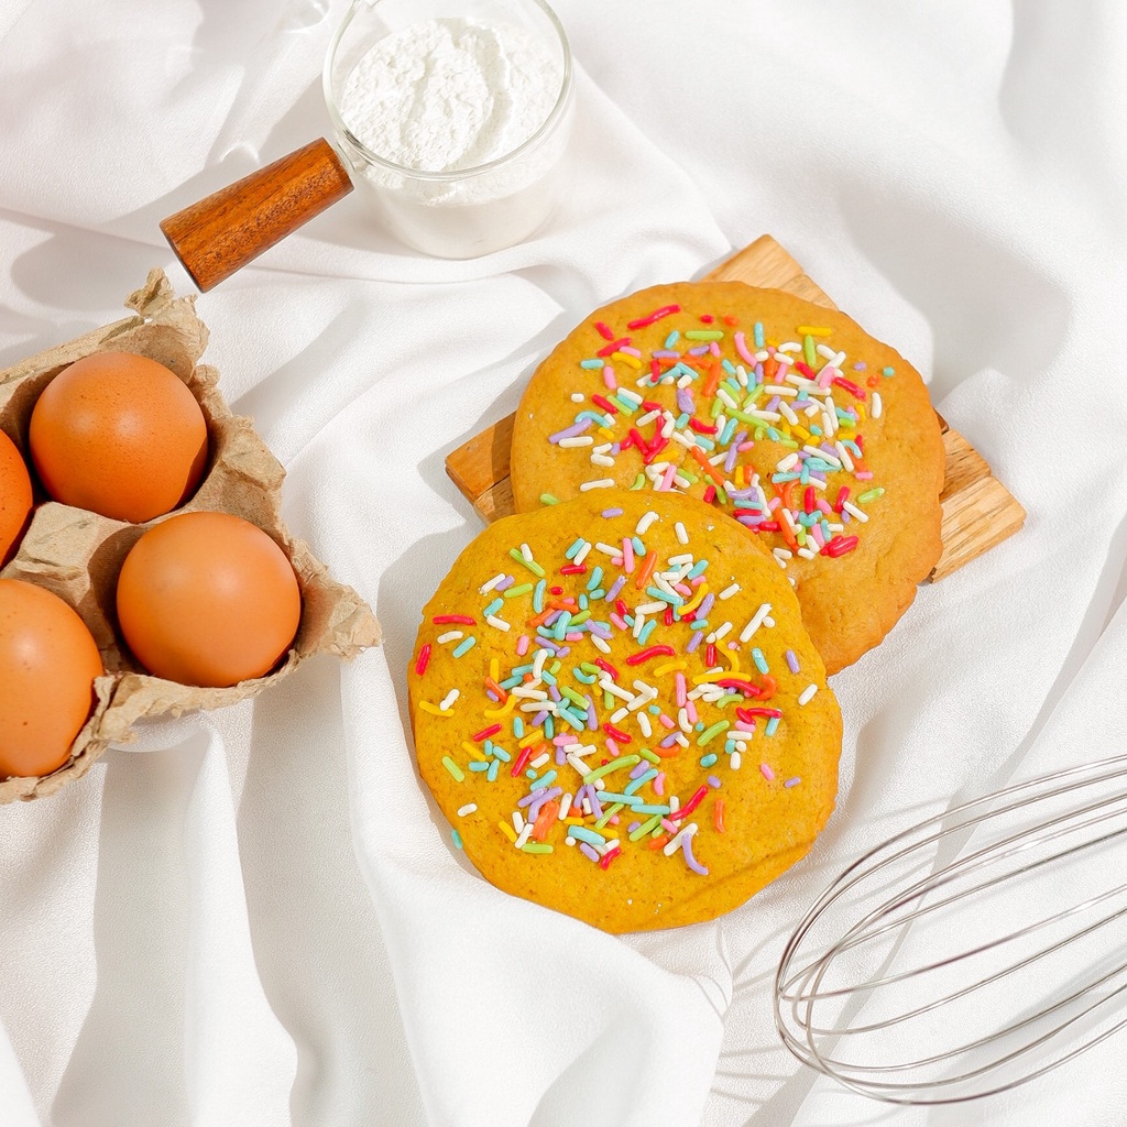
<svg viewBox="0 0 1127 1127"><path fill-rule="evenodd" d="M833 809L841 715L793 592L680 494L486 529L423 611L408 687L455 843L607 931L736 907Z"/></svg>

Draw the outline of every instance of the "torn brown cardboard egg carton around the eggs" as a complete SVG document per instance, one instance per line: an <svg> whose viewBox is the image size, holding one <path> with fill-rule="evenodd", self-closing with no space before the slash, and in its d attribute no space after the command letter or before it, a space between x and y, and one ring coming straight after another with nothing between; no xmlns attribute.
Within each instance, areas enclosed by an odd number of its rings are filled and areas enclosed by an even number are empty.
<svg viewBox="0 0 1127 1127"><path fill-rule="evenodd" d="M95 708L71 745L69 760L43 778L0 781L0 804L44 798L81 778L110 744L131 738L137 720L233 704L281 681L314 654L350 658L380 640L379 623L364 600L334 580L310 549L286 531L279 512L285 470L251 420L231 412L218 389L219 372L198 363L207 329L196 316L194 299L176 298L163 272L154 269L126 305L136 311L134 316L0 372L0 429L30 465L32 410L51 380L91 353L134 353L175 372L195 396L207 421L207 468L186 504L144 524L114 521L50 499L36 506L0 577L37 584L73 607L94 635L106 673L95 682ZM201 689L150 675L116 627L117 575L130 549L153 525L196 511L230 513L268 533L293 565L301 589L301 621L282 663L264 677L228 689Z"/></svg>

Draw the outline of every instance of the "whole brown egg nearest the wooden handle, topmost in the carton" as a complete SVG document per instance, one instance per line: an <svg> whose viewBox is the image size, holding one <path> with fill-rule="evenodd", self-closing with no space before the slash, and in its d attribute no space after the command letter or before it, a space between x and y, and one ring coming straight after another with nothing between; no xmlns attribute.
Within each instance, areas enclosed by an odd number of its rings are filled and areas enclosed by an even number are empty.
<svg viewBox="0 0 1127 1127"><path fill-rule="evenodd" d="M195 491L207 461L207 424L195 396L163 364L94 353L43 390L29 445L55 500L137 524Z"/></svg>

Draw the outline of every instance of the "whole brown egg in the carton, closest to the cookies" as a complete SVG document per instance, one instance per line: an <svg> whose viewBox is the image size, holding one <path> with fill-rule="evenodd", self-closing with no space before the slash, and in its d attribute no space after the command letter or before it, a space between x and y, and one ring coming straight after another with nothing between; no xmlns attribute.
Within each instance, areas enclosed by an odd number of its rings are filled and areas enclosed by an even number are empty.
<svg viewBox="0 0 1127 1127"><path fill-rule="evenodd" d="M125 557L117 619L150 673L221 687L274 668L298 632L301 592L261 529L228 513L184 513Z"/></svg>

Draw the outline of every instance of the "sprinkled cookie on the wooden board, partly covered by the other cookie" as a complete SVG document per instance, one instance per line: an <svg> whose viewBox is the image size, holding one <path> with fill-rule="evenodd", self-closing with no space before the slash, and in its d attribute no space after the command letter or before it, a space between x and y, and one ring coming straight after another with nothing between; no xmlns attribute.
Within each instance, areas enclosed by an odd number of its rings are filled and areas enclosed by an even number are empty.
<svg viewBox="0 0 1127 1127"><path fill-rule="evenodd" d="M517 512L612 485L711 500L786 569L829 673L941 550L919 373L844 313L739 282L655 286L578 326L521 401L512 481Z"/></svg>

